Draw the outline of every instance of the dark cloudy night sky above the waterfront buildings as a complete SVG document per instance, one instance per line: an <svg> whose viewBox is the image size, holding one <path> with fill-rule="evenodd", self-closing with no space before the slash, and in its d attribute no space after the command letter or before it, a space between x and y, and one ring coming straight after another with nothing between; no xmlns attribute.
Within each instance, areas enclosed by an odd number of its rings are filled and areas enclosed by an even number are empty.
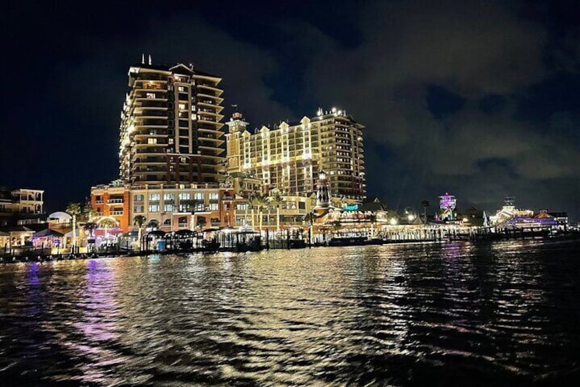
<svg viewBox="0 0 580 387"><path fill-rule="evenodd" d="M368 195L580 216L580 5L544 1L22 1L2 6L0 184L49 211L116 179L130 64L223 77L251 127L346 109Z"/></svg>

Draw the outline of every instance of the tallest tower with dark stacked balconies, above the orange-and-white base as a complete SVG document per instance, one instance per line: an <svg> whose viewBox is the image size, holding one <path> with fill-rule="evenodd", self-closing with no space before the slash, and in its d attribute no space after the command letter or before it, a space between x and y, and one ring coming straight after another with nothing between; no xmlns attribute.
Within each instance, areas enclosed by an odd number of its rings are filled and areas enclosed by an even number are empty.
<svg viewBox="0 0 580 387"><path fill-rule="evenodd" d="M121 112L120 175L126 184L217 182L225 162L221 78L193 65L129 68Z"/></svg>

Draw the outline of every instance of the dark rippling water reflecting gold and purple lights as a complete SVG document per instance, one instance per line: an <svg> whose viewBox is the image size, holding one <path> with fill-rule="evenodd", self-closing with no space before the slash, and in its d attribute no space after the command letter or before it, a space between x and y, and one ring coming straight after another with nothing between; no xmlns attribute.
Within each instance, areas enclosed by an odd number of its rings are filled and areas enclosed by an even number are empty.
<svg viewBox="0 0 580 387"><path fill-rule="evenodd" d="M580 242L0 265L0 384L580 379Z"/></svg>

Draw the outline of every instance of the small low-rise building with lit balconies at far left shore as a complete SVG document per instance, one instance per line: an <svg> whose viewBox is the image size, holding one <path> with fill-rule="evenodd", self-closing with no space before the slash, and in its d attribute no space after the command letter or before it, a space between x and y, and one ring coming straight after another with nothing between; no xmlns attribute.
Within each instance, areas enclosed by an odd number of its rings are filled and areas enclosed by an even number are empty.
<svg viewBox="0 0 580 387"><path fill-rule="evenodd" d="M0 226L45 221L44 190L0 187Z"/></svg>

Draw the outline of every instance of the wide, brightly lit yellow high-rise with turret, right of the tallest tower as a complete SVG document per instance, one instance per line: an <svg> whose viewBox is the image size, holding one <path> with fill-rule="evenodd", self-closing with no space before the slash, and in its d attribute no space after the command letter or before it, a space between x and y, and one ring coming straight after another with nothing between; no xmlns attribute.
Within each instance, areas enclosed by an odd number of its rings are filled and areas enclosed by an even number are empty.
<svg viewBox="0 0 580 387"><path fill-rule="evenodd" d="M365 198L364 126L346 112L319 110L315 117L253 133L235 113L227 125L228 172L250 173L287 195L307 195L324 171L332 197Z"/></svg>

